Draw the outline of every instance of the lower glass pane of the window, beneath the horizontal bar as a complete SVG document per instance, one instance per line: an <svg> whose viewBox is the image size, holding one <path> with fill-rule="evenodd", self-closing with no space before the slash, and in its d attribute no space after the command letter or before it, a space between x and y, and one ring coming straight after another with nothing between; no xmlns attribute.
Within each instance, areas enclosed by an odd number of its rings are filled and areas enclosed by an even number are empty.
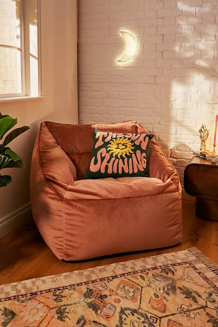
<svg viewBox="0 0 218 327"><path fill-rule="evenodd" d="M21 52L0 47L0 94L22 93Z"/></svg>

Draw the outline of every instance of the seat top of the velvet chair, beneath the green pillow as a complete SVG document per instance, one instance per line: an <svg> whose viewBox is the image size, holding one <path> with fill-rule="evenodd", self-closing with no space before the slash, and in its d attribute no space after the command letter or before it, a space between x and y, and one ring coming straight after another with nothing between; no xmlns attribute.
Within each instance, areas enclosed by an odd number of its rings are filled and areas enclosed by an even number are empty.
<svg viewBox="0 0 218 327"><path fill-rule="evenodd" d="M157 178L120 177L96 180L75 181L69 185L65 198L84 199L118 199L143 197L177 191L171 179L163 182Z"/></svg>

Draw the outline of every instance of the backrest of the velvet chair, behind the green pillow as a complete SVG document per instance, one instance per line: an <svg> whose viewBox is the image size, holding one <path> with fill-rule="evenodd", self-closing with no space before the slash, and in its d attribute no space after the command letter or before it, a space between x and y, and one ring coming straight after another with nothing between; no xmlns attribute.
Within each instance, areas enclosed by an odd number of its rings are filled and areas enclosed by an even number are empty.
<svg viewBox="0 0 218 327"><path fill-rule="evenodd" d="M143 127L133 120L96 125L67 125L53 122L45 122L45 124L56 142L74 163L78 180L83 179L87 171L92 154L95 129L113 133L145 132Z"/></svg>

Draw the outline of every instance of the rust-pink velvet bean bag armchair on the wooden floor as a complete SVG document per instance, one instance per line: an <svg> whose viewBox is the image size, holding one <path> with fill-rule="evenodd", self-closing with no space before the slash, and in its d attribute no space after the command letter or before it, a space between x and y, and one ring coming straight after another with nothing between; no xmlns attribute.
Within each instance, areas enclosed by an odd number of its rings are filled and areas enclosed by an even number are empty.
<svg viewBox="0 0 218 327"><path fill-rule="evenodd" d="M151 140L149 176L84 180L94 129L146 133L136 121L108 125L43 122L31 164L32 214L59 259L167 247L182 239L181 186Z"/></svg>

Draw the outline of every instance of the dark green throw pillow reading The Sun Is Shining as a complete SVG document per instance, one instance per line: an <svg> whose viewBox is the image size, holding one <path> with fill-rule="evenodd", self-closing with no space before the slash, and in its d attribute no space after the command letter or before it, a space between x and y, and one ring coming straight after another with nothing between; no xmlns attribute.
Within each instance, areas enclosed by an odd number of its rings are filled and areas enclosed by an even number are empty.
<svg viewBox="0 0 218 327"><path fill-rule="evenodd" d="M92 156L85 179L149 177L148 149L152 134L94 131Z"/></svg>

